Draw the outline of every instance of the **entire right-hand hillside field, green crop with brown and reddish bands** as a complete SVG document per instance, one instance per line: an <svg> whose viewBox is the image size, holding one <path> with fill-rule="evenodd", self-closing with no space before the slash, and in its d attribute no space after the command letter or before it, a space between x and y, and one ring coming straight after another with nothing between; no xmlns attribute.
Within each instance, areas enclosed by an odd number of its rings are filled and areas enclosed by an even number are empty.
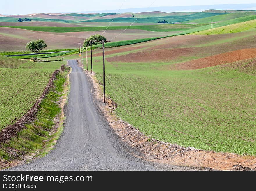
<svg viewBox="0 0 256 191"><path fill-rule="evenodd" d="M106 48L106 91L116 114L158 140L255 155L255 35L183 35ZM102 81L101 50L94 50L93 69Z"/></svg>

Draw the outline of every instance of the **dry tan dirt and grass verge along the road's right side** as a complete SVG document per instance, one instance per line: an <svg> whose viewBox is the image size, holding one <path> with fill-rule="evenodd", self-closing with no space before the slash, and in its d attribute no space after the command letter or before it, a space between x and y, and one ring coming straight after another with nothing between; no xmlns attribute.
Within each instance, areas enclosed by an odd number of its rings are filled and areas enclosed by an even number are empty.
<svg viewBox="0 0 256 191"><path fill-rule="evenodd" d="M110 126L122 141L144 153L147 160L172 165L204 167L206 169L256 170L256 158L254 156L240 156L234 153L216 153L193 147L181 147L144 135L115 115L114 110L117 104L109 97L106 98L106 104L102 103L102 85L99 84L94 74L90 72L86 72L86 74L94 82L95 97L98 99L99 107Z"/></svg>

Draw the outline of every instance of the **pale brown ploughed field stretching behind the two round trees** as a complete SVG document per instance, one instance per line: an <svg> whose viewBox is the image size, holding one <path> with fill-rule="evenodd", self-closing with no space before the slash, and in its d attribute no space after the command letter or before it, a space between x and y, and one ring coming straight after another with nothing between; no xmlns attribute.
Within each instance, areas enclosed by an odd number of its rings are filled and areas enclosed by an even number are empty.
<svg viewBox="0 0 256 191"><path fill-rule="evenodd" d="M0 28L0 51L20 51L25 50L26 43L31 40L44 39L47 49L77 48L77 42L83 42L90 35L102 34L103 31L96 32L70 32L70 33L49 33L40 31L29 31L19 28ZM110 30L104 33L107 39L118 35L120 30ZM148 37L164 36L166 33L128 29L113 41L132 40Z"/></svg>

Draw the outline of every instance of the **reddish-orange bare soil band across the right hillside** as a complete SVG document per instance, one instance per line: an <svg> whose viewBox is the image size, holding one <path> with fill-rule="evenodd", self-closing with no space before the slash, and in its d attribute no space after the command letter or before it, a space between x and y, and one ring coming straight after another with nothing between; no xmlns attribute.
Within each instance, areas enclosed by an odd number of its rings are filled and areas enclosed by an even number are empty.
<svg viewBox="0 0 256 191"><path fill-rule="evenodd" d="M256 48L242 49L231 51L227 53L222 53L214 56L208 56L205 58L200 58L196 60L190 60L183 63L178 63L175 65L169 65L168 69L178 69L178 70L193 70L200 68L207 68L211 66L217 66L227 63L233 63L239 60L246 60L249 58L256 57Z"/></svg>

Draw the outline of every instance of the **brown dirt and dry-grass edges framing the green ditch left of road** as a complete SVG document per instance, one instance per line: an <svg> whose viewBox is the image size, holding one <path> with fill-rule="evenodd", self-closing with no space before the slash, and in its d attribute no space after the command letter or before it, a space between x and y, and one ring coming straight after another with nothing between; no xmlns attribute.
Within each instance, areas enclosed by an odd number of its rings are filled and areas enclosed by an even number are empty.
<svg viewBox="0 0 256 191"><path fill-rule="evenodd" d="M45 90L43 91L41 97L34 104L34 106L21 119L19 119L15 124L9 125L8 127L4 128L0 132L0 138L1 138L0 143L9 144L9 140L11 138L17 136L19 131L22 131L24 128L26 128L25 124L33 123L33 121L36 120L36 118L35 118L36 113L38 112L38 109L40 108L39 105L40 105L42 99L45 98L45 96L49 93L50 89L53 87L53 85L54 85L53 81L56 79L56 75L60 71L65 71L65 70L66 70L65 66L62 65L59 70L54 71ZM63 121L64 121L63 108L64 108L64 104L67 99L67 91L68 91L68 86L69 86L68 74L66 77L67 80L64 84L64 92L65 93L63 94L61 99L58 101L58 105L61 108L61 113L60 113L60 115L58 115L54 118L55 127L54 127L54 129L52 129L49 132L51 135L54 133L57 133L56 136L54 135L51 138L51 140L53 140L54 143L56 143L56 138L58 137L58 132L62 131L62 125L63 125ZM35 124L33 124L33 125L35 125ZM47 141L51 141L51 140L47 140ZM32 160L35 156L37 156L38 153L41 153L41 151L43 151L43 153L47 153L49 151L49 149L51 149L53 146L54 146L54 144L51 144L49 146L46 145L44 148L35 150L35 152L32 151L31 153L22 152L22 151L14 149L13 147L6 147L7 153L10 154L11 156L14 156L14 158L11 160L8 160L8 161L0 159L0 169L5 169L8 167L13 167L13 166L24 164L26 161ZM2 146L0 144L0 148L1 147ZM39 156L40 156L40 154L39 154Z"/></svg>

